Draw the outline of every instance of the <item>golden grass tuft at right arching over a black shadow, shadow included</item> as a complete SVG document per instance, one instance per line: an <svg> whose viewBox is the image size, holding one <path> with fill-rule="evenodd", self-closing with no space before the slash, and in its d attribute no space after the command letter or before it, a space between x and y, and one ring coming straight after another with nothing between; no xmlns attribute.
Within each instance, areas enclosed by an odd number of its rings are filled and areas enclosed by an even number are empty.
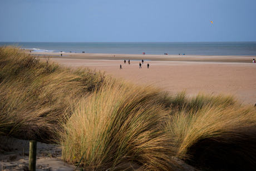
<svg viewBox="0 0 256 171"><path fill-rule="evenodd" d="M170 115L169 134L175 137L179 158L201 169L255 169L255 109L241 107L230 97L213 97L211 103L206 99L200 109L197 103Z"/></svg>

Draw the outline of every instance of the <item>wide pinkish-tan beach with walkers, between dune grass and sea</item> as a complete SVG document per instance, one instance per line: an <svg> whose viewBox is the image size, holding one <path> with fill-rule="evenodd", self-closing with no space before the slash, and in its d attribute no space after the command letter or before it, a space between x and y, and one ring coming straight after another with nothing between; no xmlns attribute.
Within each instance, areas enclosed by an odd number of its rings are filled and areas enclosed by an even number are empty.
<svg viewBox="0 0 256 171"><path fill-rule="evenodd" d="M256 103L256 64L252 63L256 56L32 54L40 55L42 61L50 56L52 61L63 66L88 67L135 84L150 84L171 94L181 91L189 96L198 93L232 94L243 104ZM142 59L144 64L140 69Z"/></svg>

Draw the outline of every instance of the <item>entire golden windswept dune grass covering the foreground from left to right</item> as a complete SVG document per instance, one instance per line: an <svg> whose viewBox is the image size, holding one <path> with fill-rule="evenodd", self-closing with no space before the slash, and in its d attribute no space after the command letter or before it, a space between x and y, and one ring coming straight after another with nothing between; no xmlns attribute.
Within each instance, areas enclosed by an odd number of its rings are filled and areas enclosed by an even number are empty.
<svg viewBox="0 0 256 171"><path fill-rule="evenodd" d="M86 170L256 170L255 107L171 96L13 47L0 47L0 135L55 140Z"/></svg>

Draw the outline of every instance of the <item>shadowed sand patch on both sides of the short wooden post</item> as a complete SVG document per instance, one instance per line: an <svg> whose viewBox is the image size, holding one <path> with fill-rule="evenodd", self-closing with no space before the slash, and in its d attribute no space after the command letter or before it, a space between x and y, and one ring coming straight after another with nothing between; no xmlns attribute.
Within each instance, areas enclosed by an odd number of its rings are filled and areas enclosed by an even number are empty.
<svg viewBox="0 0 256 171"><path fill-rule="evenodd" d="M61 152L58 145L37 142L36 170L74 170L61 160ZM0 137L0 170L28 170L28 154L28 140Z"/></svg>

